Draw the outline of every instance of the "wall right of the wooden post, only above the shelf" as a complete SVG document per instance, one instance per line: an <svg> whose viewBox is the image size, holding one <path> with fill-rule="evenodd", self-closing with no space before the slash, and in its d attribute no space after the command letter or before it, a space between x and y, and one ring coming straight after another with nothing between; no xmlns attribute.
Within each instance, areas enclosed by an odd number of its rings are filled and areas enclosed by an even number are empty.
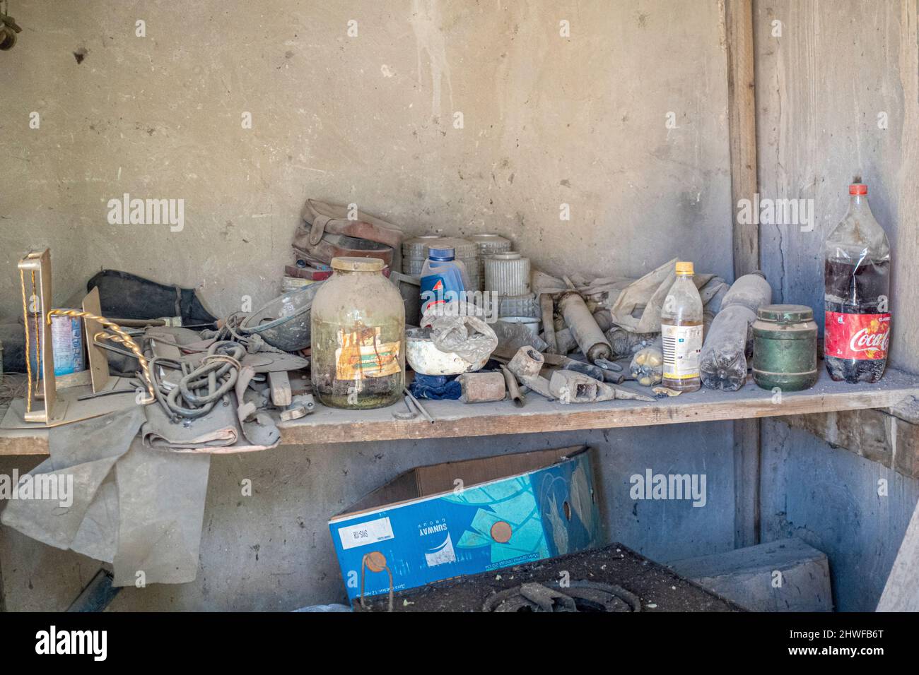
<svg viewBox="0 0 919 675"><path fill-rule="evenodd" d="M845 215L852 177L861 175L891 242L893 363L919 371L916 3L758 0L754 7L760 194L812 199L816 214L812 231L761 225L773 298L816 308L823 325L823 240Z"/></svg>

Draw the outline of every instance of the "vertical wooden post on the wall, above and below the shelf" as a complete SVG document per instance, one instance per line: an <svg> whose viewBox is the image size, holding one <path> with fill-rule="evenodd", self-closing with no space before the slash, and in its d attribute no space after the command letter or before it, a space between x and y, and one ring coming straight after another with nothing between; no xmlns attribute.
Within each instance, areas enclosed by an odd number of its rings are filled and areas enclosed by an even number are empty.
<svg viewBox="0 0 919 675"><path fill-rule="evenodd" d="M731 152L731 209L734 278L759 269L759 229L737 218L741 199L754 199L756 101L754 90L753 0L724 0L728 51L728 136ZM734 433L734 546L759 543L760 424L738 420Z"/></svg>

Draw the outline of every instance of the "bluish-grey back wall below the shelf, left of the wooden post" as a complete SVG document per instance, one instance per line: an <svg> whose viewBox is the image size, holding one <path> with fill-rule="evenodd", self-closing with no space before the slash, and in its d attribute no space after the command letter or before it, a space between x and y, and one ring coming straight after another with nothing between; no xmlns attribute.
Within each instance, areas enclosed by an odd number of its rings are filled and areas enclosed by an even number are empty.
<svg viewBox="0 0 919 675"><path fill-rule="evenodd" d="M341 602L345 586L328 518L404 470L425 464L571 444L590 444L607 541L660 561L733 547L730 422L607 432L548 433L380 444L284 447L213 456L199 575L192 583L121 591L113 610L291 610ZM730 457L730 454L727 456ZM34 458L0 457L0 473ZM707 501L633 501L630 476L705 474ZM240 481L252 480L243 497ZM0 568L9 611L66 609L99 563L0 527Z"/></svg>

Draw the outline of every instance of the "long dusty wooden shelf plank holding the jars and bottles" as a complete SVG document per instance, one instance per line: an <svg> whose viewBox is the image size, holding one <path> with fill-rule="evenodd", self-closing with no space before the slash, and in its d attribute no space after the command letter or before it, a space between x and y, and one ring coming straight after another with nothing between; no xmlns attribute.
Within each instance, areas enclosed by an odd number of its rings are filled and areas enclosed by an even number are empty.
<svg viewBox="0 0 919 675"><path fill-rule="evenodd" d="M531 393L523 408L515 408L510 401L474 405L453 400L423 401L436 419L433 424L422 418L408 422L394 419L393 411L404 410L400 403L391 408L359 412L317 405L312 415L281 422L279 426L282 444L332 444L615 429L890 408L910 396L919 396L919 377L899 370L889 368L874 385L833 382L822 370L816 386L784 393L780 399L752 382L740 391L703 388L655 402L616 400L563 405ZM48 432L43 429L0 430L0 455L47 455L47 439Z"/></svg>

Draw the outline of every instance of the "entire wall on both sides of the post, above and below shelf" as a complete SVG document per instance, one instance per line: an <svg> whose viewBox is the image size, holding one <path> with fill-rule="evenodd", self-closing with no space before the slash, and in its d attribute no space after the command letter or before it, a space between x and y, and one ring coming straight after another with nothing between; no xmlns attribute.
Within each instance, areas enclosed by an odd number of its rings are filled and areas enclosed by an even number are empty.
<svg viewBox="0 0 919 675"><path fill-rule="evenodd" d="M96 0L65 13L15 3L26 29L0 54L0 278L11 288L17 258L51 246L59 303L105 266L199 287L218 313L237 309L244 295L258 302L277 290L312 196L355 202L416 233L498 231L556 273L635 276L680 255L730 274L717 2L175 7ZM861 174L893 245L894 363L919 371L908 283L919 253L916 3L757 0L754 12L760 193L812 198L816 212L812 231L761 228L775 298L821 307L823 238ZM138 19L146 38L134 35ZM570 38L559 36L562 19ZM33 111L40 129L28 128ZM244 111L252 129L241 127ZM668 112L675 129L665 126ZM185 229L109 225L108 199L124 192L185 199ZM559 220L562 203L571 221ZM0 314L17 314L17 303L17 293L4 294ZM215 457L199 579L127 590L115 607L290 609L339 599L330 513L418 464L577 442L601 449L610 539L662 560L726 550L729 429ZM762 438L764 540L798 534L821 548L837 607L872 609L917 482L780 422L764 422ZM0 470L32 462L6 458ZM709 505L631 501L628 476L646 467L706 472ZM236 497L241 478L255 480L248 501ZM0 529L0 567L9 609L60 609L97 563Z"/></svg>

